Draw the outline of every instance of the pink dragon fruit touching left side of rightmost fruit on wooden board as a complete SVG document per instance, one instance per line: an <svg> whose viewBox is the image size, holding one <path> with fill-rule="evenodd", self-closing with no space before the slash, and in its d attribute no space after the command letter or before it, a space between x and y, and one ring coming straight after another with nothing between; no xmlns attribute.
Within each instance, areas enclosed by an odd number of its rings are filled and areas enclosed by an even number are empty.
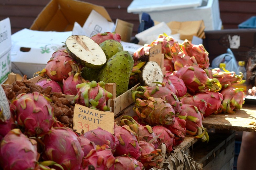
<svg viewBox="0 0 256 170"><path fill-rule="evenodd" d="M200 92L195 94L193 98L195 100L204 100L207 103L207 107L203 113L204 117L221 111L221 102L223 100L223 96L219 92Z"/></svg>

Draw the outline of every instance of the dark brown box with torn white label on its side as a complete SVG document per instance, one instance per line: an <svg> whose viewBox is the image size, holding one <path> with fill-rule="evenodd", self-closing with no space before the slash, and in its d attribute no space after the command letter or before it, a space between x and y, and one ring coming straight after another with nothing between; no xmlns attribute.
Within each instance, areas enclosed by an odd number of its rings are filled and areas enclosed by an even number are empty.
<svg viewBox="0 0 256 170"><path fill-rule="evenodd" d="M227 52L230 48L237 61L246 61L256 52L256 29L223 29L219 31L205 31L203 45L212 60Z"/></svg>

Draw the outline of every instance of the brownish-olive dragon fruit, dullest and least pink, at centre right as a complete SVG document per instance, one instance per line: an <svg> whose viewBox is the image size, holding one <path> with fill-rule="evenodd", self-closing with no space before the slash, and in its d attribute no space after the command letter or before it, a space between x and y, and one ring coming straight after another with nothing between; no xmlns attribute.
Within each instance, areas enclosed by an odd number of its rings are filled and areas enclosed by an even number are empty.
<svg viewBox="0 0 256 170"><path fill-rule="evenodd" d="M161 98L136 99L134 112L151 126L172 125L175 110L170 103Z"/></svg>

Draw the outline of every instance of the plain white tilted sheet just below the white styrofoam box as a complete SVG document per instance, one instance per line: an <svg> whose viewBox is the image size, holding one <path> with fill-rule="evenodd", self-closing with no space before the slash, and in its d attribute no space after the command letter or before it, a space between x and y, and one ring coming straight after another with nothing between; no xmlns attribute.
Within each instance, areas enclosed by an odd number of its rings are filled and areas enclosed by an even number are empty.
<svg viewBox="0 0 256 170"><path fill-rule="evenodd" d="M136 34L135 37L139 40L140 45L144 45L151 44L152 41L158 38L159 34L163 33L170 35L171 29L166 25L165 22L160 22L159 24Z"/></svg>

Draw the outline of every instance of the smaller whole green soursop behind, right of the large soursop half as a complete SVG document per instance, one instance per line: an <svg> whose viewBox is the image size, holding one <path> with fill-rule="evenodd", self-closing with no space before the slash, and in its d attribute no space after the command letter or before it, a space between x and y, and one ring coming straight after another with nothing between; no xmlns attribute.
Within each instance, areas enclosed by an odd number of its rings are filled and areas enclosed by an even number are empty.
<svg viewBox="0 0 256 170"><path fill-rule="evenodd" d="M105 40L99 46L104 51L107 60L114 56L117 52L123 51L123 45L116 40Z"/></svg>

